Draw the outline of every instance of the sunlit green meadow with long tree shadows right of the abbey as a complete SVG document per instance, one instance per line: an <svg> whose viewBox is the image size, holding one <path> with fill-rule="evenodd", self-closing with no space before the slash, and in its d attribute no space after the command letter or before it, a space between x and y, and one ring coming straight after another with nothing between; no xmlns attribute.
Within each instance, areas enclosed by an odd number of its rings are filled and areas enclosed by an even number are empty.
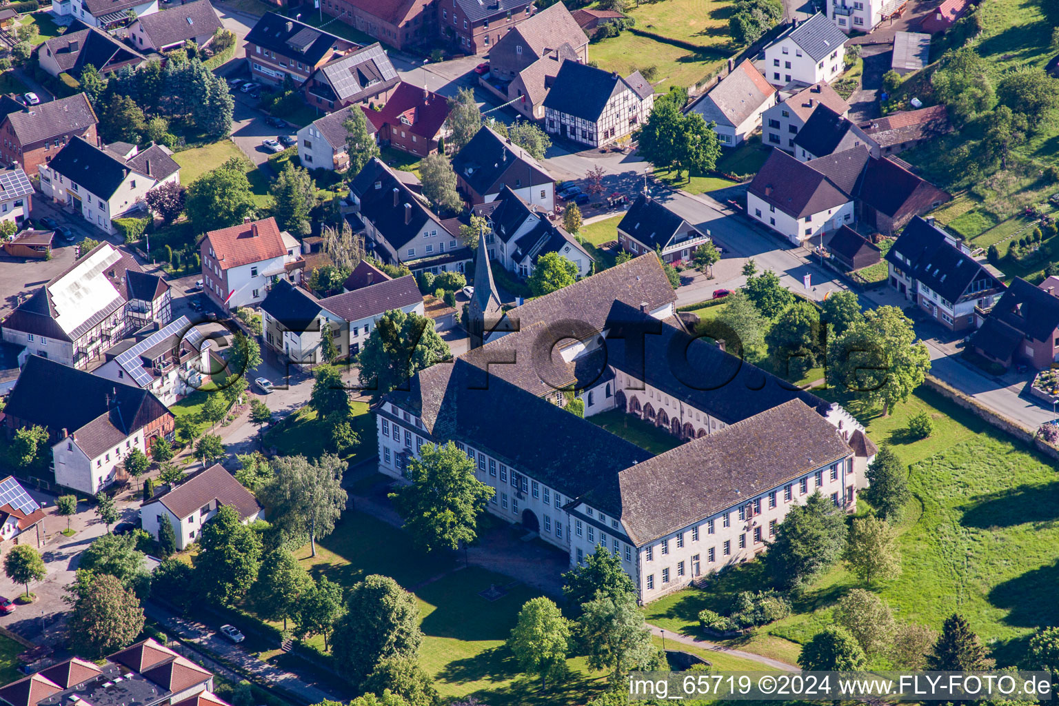
<svg viewBox="0 0 1059 706"><path fill-rule="evenodd" d="M903 574L880 595L899 619L935 629L959 611L1002 666L1017 663L1025 637L1054 622L1059 483L1053 466L925 388L890 417L832 390L819 394L846 404L877 443L892 445L911 466L914 500L898 524ZM913 440L905 430L920 412L933 418L934 432ZM765 580L759 563L743 564L706 590L667 596L645 613L656 624L697 634L698 611L724 610L738 591ZM834 601L856 585L837 566L795 599L790 617L721 641L791 662L798 644L830 620Z"/></svg>

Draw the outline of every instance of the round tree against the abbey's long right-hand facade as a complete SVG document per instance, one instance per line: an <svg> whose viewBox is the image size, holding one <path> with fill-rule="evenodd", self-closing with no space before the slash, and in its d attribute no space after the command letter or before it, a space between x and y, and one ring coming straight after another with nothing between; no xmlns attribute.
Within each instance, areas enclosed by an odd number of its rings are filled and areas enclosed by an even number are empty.
<svg viewBox="0 0 1059 706"><path fill-rule="evenodd" d="M845 547L845 513L818 490L788 510L765 562L777 585L801 589L830 568Z"/></svg>

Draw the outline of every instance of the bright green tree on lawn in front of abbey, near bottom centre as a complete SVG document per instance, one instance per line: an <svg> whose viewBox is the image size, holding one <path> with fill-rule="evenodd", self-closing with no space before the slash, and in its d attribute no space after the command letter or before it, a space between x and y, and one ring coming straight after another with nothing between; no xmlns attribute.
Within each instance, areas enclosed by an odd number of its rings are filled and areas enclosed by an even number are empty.
<svg viewBox="0 0 1059 706"><path fill-rule="evenodd" d="M541 689L546 689L549 678L561 678L567 672L570 624L551 599L534 598L519 611L507 648L522 671L538 674Z"/></svg>

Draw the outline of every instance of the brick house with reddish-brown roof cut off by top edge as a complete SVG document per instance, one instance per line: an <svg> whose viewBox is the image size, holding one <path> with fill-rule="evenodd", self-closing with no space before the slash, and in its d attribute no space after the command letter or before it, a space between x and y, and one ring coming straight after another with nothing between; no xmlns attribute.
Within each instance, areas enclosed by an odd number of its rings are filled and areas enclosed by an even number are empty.
<svg viewBox="0 0 1059 706"><path fill-rule="evenodd" d="M320 10L400 51L438 37L431 0L321 0Z"/></svg>

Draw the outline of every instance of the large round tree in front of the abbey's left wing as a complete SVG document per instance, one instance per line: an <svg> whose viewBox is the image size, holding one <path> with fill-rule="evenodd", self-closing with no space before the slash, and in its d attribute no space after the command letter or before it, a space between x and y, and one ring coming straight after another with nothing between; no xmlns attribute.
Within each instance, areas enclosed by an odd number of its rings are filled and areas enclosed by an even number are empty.
<svg viewBox="0 0 1059 706"><path fill-rule="evenodd" d="M474 476L466 453L452 441L425 443L409 460L408 479L390 497L416 544L434 551L474 541L478 518L496 491Z"/></svg>

